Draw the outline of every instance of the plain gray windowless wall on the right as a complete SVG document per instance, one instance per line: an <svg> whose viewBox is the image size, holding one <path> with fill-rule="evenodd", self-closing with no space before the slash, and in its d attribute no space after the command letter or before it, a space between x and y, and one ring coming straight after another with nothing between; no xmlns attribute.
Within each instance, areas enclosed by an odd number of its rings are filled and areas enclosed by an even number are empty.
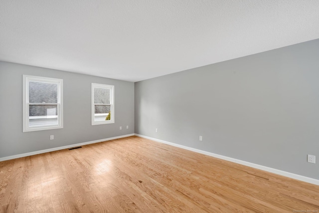
<svg viewBox="0 0 319 213"><path fill-rule="evenodd" d="M136 82L135 109L137 134L319 179L319 39Z"/></svg>

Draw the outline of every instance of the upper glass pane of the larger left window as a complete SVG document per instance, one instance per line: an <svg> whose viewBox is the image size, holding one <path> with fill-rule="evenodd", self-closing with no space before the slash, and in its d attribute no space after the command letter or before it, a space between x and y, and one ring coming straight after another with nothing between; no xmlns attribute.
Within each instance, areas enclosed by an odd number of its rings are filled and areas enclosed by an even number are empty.
<svg viewBox="0 0 319 213"><path fill-rule="evenodd" d="M29 82L29 103L57 103L57 95L57 84Z"/></svg>

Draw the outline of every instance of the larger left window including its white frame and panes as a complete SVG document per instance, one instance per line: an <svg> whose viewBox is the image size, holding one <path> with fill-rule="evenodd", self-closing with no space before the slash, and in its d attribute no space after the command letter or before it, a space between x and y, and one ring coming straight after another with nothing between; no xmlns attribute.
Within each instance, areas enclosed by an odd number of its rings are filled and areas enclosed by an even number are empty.
<svg viewBox="0 0 319 213"><path fill-rule="evenodd" d="M63 128L63 80L23 75L23 132Z"/></svg>

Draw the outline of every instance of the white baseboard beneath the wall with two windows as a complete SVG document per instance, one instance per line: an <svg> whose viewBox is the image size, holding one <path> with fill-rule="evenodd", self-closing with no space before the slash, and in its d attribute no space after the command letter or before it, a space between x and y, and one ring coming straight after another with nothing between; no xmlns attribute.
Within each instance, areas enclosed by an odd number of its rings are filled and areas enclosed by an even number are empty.
<svg viewBox="0 0 319 213"><path fill-rule="evenodd" d="M12 156L0 158L0 161L7 161L7 160L11 160L11 159L22 158L22 157L42 154L42 153L46 153L46 152L53 152L53 151L57 151L57 150L69 149L72 147L84 146L84 145L99 143L99 142L103 142L103 141L110 141L110 140L119 139L119 138L126 138L126 137L130 137L130 136L134 136L134 135L135 134L121 135L121 136L117 136L117 137L113 137L113 138L105 138L105 139L100 139L100 140L96 140L96 141L89 141L89 142L84 142L84 143L79 143L79 144L67 145L67 146L63 146L63 147L56 147L56 148L51 148L51 149L39 150L39 151L35 151L35 152L23 153L23 154L19 154L19 155L12 155Z"/></svg>

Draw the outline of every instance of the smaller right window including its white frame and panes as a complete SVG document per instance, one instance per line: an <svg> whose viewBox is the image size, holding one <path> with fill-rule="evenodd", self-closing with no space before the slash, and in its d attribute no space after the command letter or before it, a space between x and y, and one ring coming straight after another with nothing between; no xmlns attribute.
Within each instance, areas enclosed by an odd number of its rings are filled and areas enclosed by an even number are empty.
<svg viewBox="0 0 319 213"><path fill-rule="evenodd" d="M114 86L92 83L92 125L114 123Z"/></svg>

